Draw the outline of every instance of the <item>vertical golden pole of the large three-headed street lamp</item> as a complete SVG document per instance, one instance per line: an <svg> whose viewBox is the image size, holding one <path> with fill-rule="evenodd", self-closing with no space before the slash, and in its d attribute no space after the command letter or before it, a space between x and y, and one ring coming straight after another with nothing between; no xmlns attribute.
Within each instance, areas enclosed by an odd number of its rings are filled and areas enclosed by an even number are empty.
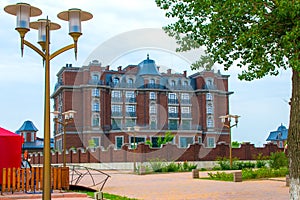
<svg viewBox="0 0 300 200"><path fill-rule="evenodd" d="M51 158L50 158L50 56L49 56L49 21L46 25L45 44L45 108L44 108L44 170L43 199L51 199Z"/></svg>

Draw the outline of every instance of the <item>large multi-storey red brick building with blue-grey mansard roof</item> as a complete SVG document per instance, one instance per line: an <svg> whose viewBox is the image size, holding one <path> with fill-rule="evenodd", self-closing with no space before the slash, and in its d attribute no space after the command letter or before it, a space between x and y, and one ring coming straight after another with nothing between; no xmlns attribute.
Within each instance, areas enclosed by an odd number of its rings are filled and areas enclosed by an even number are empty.
<svg viewBox="0 0 300 200"><path fill-rule="evenodd" d="M219 116L228 114L228 75L219 71L160 72L154 60L117 70L94 60L87 66L62 67L52 99L54 110L77 111L66 127L67 149L108 147L157 140L166 131L179 148L203 143L214 147L229 142ZM138 127L136 129L135 127ZM55 148L61 150L63 127L54 124Z"/></svg>

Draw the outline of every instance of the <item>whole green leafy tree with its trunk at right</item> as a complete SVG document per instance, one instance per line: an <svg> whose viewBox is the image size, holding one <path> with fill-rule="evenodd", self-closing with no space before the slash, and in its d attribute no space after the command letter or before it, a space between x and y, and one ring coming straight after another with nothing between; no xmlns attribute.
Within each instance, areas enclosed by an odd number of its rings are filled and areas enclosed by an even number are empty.
<svg viewBox="0 0 300 200"><path fill-rule="evenodd" d="M292 71L288 157L290 199L300 199L300 1L156 0L174 22L164 27L180 51L205 46L225 70L242 80Z"/></svg>

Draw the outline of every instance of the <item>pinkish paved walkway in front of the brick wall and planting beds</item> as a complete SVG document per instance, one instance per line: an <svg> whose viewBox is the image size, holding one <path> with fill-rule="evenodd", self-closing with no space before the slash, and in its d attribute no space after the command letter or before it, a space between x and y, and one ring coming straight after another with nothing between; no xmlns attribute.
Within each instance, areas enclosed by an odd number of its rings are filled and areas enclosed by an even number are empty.
<svg viewBox="0 0 300 200"><path fill-rule="evenodd" d="M284 179L243 182L193 179L192 173L134 175L108 172L111 178L103 191L144 200L278 199L288 198ZM201 172L200 176L207 176Z"/></svg>

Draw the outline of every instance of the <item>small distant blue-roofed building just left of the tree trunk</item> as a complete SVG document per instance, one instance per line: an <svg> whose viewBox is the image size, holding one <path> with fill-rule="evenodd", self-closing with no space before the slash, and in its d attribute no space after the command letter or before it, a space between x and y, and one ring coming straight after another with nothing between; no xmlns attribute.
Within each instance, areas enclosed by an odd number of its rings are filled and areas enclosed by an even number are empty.
<svg viewBox="0 0 300 200"><path fill-rule="evenodd" d="M271 131L267 141L277 144L278 147L283 148L284 143L287 141L288 129L282 124L278 127L277 131Z"/></svg>

